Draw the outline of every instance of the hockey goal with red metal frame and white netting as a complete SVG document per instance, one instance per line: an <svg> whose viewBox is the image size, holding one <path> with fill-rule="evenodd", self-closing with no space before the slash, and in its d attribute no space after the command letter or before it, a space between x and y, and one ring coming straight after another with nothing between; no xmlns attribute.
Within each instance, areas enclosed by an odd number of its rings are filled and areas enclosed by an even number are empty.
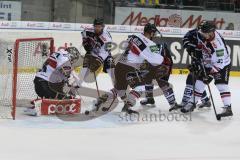
<svg viewBox="0 0 240 160"><path fill-rule="evenodd" d="M33 79L53 49L53 38L0 40L0 118L15 119L16 107L37 97Z"/></svg>

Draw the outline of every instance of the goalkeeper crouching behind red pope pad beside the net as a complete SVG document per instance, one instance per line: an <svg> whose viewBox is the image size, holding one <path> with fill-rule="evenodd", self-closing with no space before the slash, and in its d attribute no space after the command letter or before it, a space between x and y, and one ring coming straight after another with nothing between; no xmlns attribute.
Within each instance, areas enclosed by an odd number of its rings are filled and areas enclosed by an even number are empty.
<svg viewBox="0 0 240 160"><path fill-rule="evenodd" d="M41 98L72 98L63 91L63 87L73 72L72 64L79 59L80 53L75 47L68 47L52 53L43 64L34 79L35 91Z"/></svg>

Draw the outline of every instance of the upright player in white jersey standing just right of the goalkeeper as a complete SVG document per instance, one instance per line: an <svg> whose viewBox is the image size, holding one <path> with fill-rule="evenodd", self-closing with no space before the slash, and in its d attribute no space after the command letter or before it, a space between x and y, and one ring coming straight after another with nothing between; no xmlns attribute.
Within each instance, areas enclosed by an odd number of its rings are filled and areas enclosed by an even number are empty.
<svg viewBox="0 0 240 160"><path fill-rule="evenodd" d="M82 33L82 44L86 50L83 68L79 75L78 85L81 86L90 72L96 72L102 65L103 71L108 73L114 81L114 62L111 56L112 37L104 29L103 19L95 19L93 28L85 29Z"/></svg>

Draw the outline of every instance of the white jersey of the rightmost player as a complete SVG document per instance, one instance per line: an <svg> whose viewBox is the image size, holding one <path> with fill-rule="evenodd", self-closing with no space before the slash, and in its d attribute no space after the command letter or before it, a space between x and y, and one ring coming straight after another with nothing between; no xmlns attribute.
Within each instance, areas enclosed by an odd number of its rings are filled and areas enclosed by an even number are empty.
<svg viewBox="0 0 240 160"><path fill-rule="evenodd" d="M225 41L217 31L212 41L202 44L203 60L207 68L218 71L231 63Z"/></svg>

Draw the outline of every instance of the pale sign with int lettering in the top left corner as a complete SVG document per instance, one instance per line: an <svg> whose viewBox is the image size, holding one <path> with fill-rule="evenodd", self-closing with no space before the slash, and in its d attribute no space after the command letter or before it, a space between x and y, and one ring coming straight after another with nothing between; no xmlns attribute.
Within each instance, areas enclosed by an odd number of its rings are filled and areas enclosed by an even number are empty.
<svg viewBox="0 0 240 160"><path fill-rule="evenodd" d="M0 1L0 21L20 21L21 2Z"/></svg>

